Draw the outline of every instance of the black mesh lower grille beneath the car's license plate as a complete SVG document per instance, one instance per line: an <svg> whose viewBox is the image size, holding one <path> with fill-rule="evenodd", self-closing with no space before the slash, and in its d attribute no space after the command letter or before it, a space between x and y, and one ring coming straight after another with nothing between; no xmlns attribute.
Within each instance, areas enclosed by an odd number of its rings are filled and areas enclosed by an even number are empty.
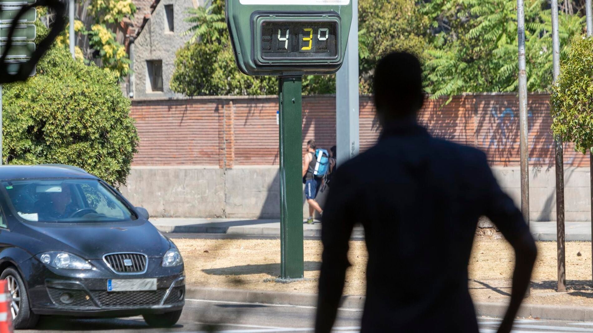
<svg viewBox="0 0 593 333"><path fill-rule="evenodd" d="M144 292L94 292L93 296L106 308L160 305L167 289Z"/></svg>

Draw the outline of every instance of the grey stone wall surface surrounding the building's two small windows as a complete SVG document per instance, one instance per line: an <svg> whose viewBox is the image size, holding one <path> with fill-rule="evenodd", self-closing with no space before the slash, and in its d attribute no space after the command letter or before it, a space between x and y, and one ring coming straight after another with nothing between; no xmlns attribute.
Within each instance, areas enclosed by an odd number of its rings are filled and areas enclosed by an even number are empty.
<svg viewBox="0 0 593 333"><path fill-rule="evenodd" d="M192 24L185 22L189 14L187 9L203 5L203 0L161 0L146 22L144 29L136 38L134 44L134 98L170 98L181 96L171 91L169 82L175 69L176 51L186 43L191 35L183 35ZM174 31L165 29L165 5L173 5ZM146 81L148 71L146 60L162 60L162 92L152 92L147 89L150 85Z"/></svg>

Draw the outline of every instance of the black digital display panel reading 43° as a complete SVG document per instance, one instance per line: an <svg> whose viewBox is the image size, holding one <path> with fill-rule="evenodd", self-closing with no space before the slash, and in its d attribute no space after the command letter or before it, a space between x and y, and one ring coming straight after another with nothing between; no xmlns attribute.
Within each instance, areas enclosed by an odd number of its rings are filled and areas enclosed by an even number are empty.
<svg viewBox="0 0 593 333"><path fill-rule="evenodd" d="M262 59L336 59L338 54L335 21L263 21Z"/></svg>

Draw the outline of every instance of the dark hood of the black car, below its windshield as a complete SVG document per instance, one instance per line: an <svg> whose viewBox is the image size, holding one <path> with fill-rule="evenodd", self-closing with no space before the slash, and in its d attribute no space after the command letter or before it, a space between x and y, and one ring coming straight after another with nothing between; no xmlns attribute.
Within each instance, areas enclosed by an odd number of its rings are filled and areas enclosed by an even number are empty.
<svg viewBox="0 0 593 333"><path fill-rule="evenodd" d="M150 222L42 223L25 222L15 230L32 254L66 251L85 259L100 259L106 253L139 252L162 257L170 241ZM17 245L17 244L15 244ZM18 246L18 245L17 245Z"/></svg>

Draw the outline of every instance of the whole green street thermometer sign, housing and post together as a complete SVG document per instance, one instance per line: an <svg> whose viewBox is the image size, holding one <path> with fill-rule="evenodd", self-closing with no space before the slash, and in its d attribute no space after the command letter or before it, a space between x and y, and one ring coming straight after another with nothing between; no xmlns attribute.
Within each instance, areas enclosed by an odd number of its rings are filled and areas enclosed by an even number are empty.
<svg viewBox="0 0 593 333"><path fill-rule="evenodd" d="M227 0L226 14L241 72L278 76L280 279L302 279L302 76L340 69L352 1Z"/></svg>

